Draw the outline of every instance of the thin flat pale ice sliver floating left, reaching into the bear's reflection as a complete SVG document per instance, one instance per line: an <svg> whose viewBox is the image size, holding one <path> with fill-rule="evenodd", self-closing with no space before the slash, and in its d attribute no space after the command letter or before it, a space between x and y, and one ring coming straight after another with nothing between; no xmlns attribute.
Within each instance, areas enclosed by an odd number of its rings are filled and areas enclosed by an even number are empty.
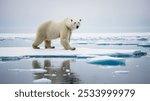
<svg viewBox="0 0 150 101"><path fill-rule="evenodd" d="M11 71L16 72L33 72L33 73L45 73L47 70L45 69L9 69Z"/></svg>

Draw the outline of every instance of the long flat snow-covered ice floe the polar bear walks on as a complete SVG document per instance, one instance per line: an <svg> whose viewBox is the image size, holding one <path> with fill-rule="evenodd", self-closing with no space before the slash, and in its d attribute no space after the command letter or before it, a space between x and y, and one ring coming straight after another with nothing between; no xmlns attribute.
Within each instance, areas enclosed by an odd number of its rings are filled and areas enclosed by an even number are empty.
<svg viewBox="0 0 150 101"><path fill-rule="evenodd" d="M95 56L136 57L144 56L146 52L130 49L91 49L77 48L75 51L64 49L32 49L31 47L0 47L1 61L19 60L22 58L62 57L88 58Z"/></svg>

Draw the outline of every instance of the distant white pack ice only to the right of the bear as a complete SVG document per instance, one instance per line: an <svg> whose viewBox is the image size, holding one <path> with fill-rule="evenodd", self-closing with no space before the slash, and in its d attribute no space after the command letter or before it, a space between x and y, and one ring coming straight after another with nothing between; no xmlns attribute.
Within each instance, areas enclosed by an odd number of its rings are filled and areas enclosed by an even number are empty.
<svg viewBox="0 0 150 101"><path fill-rule="evenodd" d="M75 44L138 45L142 41L150 41L150 33L77 33L72 37Z"/></svg>

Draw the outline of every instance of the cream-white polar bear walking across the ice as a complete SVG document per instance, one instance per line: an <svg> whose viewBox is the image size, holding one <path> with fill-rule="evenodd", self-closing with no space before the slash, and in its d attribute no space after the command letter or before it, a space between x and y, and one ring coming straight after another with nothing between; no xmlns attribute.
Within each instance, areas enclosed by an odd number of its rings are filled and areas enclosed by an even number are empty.
<svg viewBox="0 0 150 101"><path fill-rule="evenodd" d="M32 44L34 49L40 49L38 46L44 41L45 48L55 48L51 46L51 40L60 38L60 43L65 50L75 50L69 42L72 31L78 29L81 19L78 21L66 18L62 21L46 21L38 28L35 41Z"/></svg>

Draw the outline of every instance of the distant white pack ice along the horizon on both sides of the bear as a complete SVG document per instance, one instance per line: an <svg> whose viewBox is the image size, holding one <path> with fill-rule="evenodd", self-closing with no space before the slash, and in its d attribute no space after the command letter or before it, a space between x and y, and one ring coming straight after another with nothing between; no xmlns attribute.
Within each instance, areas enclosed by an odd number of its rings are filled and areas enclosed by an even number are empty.
<svg viewBox="0 0 150 101"><path fill-rule="evenodd" d="M0 42L4 40L34 40L35 33L8 33L0 34ZM141 42L150 41L150 33L73 33L73 44L96 45L139 45Z"/></svg>

